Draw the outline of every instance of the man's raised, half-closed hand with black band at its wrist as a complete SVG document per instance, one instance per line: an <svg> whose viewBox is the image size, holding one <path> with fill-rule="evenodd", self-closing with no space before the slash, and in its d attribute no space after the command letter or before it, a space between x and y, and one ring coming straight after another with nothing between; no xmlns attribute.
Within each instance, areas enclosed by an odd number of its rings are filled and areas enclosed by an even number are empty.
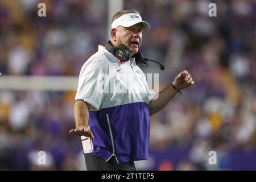
<svg viewBox="0 0 256 182"><path fill-rule="evenodd" d="M191 77L187 70L180 72L179 75L177 75L174 81L172 82L172 85L174 85L175 88L179 90L185 89L193 84L195 84L195 81L193 81L193 78Z"/></svg>

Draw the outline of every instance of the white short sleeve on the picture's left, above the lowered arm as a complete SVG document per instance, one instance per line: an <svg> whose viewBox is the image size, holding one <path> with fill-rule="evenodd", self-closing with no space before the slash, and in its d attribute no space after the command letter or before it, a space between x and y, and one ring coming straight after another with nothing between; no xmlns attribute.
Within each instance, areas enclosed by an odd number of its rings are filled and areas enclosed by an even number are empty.
<svg viewBox="0 0 256 182"><path fill-rule="evenodd" d="M84 100L98 110L104 97L104 83L103 68L97 61L90 60L81 68L75 100Z"/></svg>

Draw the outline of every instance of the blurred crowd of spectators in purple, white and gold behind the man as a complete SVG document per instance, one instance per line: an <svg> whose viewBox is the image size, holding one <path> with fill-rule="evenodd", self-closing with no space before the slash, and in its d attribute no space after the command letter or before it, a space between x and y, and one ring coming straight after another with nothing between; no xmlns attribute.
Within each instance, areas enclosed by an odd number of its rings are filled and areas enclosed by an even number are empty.
<svg viewBox="0 0 256 182"><path fill-rule="evenodd" d="M2 76L78 76L98 44L108 41L108 1L42 2L46 17L38 16L39 1L0 1ZM216 17L208 15L211 2ZM255 1L125 0L123 5L150 23L141 51L166 69L154 63L142 69L159 73L160 90L183 69L195 80L151 117L151 169L237 169L236 158L246 154L244 166L255 161ZM85 169L80 138L68 134L75 126L75 93L1 90L0 169ZM46 151L47 165L38 164L39 151ZM217 165L209 165L209 151L216 151ZM177 162L175 152L184 154ZM154 154L167 157L160 161ZM138 169L150 168L138 163ZM256 170L256 164L249 169Z"/></svg>

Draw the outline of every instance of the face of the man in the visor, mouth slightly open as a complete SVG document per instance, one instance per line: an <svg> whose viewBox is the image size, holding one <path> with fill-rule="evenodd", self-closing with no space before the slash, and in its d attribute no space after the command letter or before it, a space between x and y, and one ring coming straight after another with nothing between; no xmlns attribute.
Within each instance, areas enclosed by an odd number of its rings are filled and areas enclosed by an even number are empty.
<svg viewBox="0 0 256 182"><path fill-rule="evenodd" d="M124 45L131 51L131 55L134 55L139 51L142 43L142 31L143 26L141 23L134 24L131 27L119 26L116 32L117 45Z"/></svg>

